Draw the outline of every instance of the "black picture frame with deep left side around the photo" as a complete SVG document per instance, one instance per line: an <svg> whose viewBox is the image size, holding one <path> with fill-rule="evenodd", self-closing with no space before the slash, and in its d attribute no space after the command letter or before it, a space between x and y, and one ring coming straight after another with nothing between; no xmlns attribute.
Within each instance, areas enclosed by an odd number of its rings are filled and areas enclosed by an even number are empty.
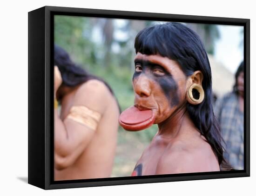
<svg viewBox="0 0 256 196"><path fill-rule="evenodd" d="M189 22L244 27L245 104L244 104L244 170L109 177L98 179L54 181L54 14ZM135 183L172 182L250 175L250 20L162 13L141 13L114 10L44 6L28 13L28 183L42 189L108 186Z"/></svg>

